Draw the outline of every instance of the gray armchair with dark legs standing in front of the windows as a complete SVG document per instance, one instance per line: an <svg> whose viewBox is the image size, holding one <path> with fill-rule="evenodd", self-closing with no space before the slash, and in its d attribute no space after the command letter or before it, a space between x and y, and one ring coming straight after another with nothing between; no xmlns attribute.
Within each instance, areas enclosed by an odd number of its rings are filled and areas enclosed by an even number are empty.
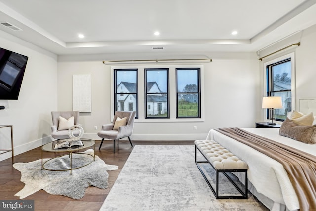
<svg viewBox="0 0 316 211"><path fill-rule="evenodd" d="M129 143L133 147L133 143L130 139L130 136L133 133L135 114L135 111L116 111L114 114L113 123L102 125L102 130L98 132L98 136L102 138L99 150L101 149L101 146L105 138L113 140L113 153L115 153L115 140L119 140L121 138L127 137ZM118 130L114 130L113 127L118 117L120 119L127 117L127 124L118 127Z"/></svg>

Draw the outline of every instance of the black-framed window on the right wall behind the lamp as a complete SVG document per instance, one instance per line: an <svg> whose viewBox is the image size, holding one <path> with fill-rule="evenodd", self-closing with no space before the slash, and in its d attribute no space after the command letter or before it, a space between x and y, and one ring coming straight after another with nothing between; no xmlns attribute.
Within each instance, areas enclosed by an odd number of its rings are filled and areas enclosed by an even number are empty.
<svg viewBox="0 0 316 211"><path fill-rule="evenodd" d="M267 96L282 98L283 108L274 110L277 121L286 119L287 112L292 110L292 64L291 58L286 58L266 66L267 71ZM267 109L267 119L270 119Z"/></svg>

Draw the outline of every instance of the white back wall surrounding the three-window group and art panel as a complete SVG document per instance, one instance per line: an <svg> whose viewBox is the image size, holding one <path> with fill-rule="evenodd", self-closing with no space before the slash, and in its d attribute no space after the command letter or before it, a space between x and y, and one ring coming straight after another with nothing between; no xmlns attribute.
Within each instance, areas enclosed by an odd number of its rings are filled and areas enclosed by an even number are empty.
<svg viewBox="0 0 316 211"><path fill-rule="evenodd" d="M211 128L254 127L261 111L257 56L255 53L212 53L208 56L213 62L203 64L204 122L136 120L133 140L195 140L205 138ZM104 58L102 55L58 57L58 110L72 109L72 75L91 74L92 112L81 113L80 123L85 136L94 139L100 139L94 126L100 129L102 124L111 121L113 79L111 66L102 63ZM197 130L193 130L194 125Z"/></svg>

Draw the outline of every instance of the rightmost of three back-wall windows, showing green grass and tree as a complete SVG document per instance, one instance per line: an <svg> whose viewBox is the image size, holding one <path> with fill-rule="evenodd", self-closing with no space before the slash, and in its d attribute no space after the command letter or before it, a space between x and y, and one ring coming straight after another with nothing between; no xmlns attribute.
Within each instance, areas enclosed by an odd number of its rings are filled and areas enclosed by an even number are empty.
<svg viewBox="0 0 316 211"><path fill-rule="evenodd" d="M177 118L200 118L200 68L176 68Z"/></svg>

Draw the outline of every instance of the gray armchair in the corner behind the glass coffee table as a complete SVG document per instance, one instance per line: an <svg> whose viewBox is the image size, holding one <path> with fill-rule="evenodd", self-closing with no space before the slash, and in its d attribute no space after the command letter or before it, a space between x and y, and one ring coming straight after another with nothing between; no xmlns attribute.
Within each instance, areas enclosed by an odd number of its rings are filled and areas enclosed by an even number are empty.
<svg viewBox="0 0 316 211"><path fill-rule="evenodd" d="M51 136L55 139L58 139L58 140L69 138L68 129L58 130L59 116L65 118L67 120L70 117L74 116L74 125L80 125L79 124L80 112L79 111L52 111L51 112L51 117L53 120L53 126L51 127ZM78 136L79 131L74 131L73 134Z"/></svg>

